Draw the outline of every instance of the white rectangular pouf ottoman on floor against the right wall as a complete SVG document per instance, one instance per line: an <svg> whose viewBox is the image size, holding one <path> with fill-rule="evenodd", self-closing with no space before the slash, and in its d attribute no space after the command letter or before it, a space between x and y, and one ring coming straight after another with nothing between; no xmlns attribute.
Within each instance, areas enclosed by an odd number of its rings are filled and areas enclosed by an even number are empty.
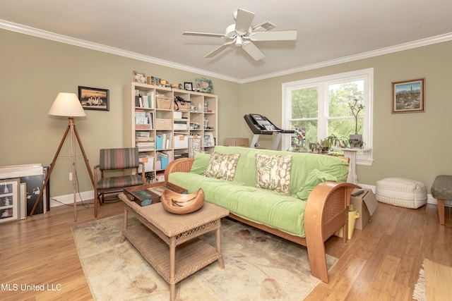
<svg viewBox="0 0 452 301"><path fill-rule="evenodd" d="M405 178L383 178L376 181L376 199L379 202L406 208L419 208L427 204L424 183Z"/></svg>

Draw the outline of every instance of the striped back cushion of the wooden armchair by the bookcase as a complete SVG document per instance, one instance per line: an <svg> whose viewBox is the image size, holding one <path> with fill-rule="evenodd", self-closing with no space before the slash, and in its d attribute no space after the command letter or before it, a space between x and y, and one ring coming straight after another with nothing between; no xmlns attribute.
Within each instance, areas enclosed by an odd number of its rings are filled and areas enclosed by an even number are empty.
<svg viewBox="0 0 452 301"><path fill-rule="evenodd" d="M138 149L100 149L99 165L101 171L138 167Z"/></svg>

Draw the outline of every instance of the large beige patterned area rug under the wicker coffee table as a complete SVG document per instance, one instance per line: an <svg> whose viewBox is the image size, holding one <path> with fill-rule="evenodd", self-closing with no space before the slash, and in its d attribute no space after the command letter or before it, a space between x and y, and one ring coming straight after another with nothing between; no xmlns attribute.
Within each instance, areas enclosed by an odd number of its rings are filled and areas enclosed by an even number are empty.
<svg viewBox="0 0 452 301"><path fill-rule="evenodd" d="M123 215L73 226L78 256L95 300L169 300L169 285L128 240ZM129 214L129 225L139 221ZM215 245L215 233L201 237ZM213 262L176 285L176 300L303 300L320 282L306 247L222 219L225 269ZM337 259L327 255L328 269Z"/></svg>

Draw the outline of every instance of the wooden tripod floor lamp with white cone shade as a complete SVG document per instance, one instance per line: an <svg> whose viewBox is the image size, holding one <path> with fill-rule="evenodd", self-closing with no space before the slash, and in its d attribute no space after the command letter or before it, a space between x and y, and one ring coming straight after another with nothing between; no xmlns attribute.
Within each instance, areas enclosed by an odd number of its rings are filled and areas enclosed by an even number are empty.
<svg viewBox="0 0 452 301"><path fill-rule="evenodd" d="M93 183L94 185L93 173L91 172L90 165L88 164L88 159L86 158L85 150L83 149L82 142L80 140L80 137L78 136L76 125L73 123L74 117L86 116L86 114L85 111L83 111L83 106L81 105L81 102L78 100L78 97L75 93L63 93L63 92L60 92L58 94L57 98L54 100L54 103L50 107L48 114L52 116L67 117L69 119L69 125L66 128L66 132L63 135L63 139L61 139L61 142L59 144L57 153L54 156L52 164L50 164L49 172L45 177L44 185L42 186L40 195L37 196L35 205L33 206L30 212L30 216L32 216L35 213L35 209L37 207L37 204L40 202L42 193L44 192L44 188L49 182L50 175L52 174L52 171L54 169L55 162L57 161L57 157L59 155L59 152L61 151L61 147L63 146L63 143L66 140L68 133L71 133L71 160L72 160L71 164L72 164L72 186L73 186L73 208L74 208L73 216L74 220L77 221L77 206L76 206L77 176L76 176L76 142L74 139L75 137L77 138L78 145L80 146L81 152L83 154L83 159L85 160L86 168L88 169L88 173L90 174L91 183Z"/></svg>

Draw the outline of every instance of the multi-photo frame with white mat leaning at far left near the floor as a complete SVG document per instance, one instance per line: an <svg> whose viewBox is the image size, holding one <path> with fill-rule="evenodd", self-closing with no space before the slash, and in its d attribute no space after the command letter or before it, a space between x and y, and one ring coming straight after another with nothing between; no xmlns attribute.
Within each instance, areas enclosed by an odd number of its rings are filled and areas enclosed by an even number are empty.
<svg viewBox="0 0 452 301"><path fill-rule="evenodd" d="M18 178L0 180L0 223L20 218L19 185Z"/></svg>

